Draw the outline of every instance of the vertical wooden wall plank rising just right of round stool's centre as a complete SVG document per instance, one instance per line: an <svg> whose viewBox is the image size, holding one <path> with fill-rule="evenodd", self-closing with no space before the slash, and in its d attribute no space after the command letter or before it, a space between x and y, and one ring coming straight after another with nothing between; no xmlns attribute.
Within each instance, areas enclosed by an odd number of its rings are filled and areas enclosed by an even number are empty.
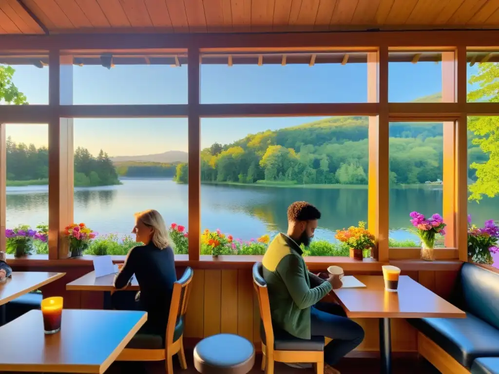
<svg viewBox="0 0 499 374"><path fill-rule="evenodd" d="M238 333L238 271L222 270L221 332Z"/></svg>

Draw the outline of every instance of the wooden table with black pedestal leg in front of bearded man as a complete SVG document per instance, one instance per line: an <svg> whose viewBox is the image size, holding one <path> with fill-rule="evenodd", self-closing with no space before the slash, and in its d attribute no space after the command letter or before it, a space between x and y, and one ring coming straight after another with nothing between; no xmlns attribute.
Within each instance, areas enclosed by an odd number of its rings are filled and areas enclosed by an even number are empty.
<svg viewBox="0 0 499 374"><path fill-rule="evenodd" d="M334 290L350 318L379 318L381 372L391 373L391 318L466 318L465 312L407 275L399 278L398 292L385 291L383 276L355 276L364 288Z"/></svg>

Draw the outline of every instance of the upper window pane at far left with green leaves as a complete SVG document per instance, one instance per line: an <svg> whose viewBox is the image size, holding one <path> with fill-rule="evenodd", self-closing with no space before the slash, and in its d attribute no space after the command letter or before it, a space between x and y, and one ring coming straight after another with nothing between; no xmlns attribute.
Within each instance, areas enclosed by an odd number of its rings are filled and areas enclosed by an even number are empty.
<svg viewBox="0 0 499 374"><path fill-rule="evenodd" d="M48 56L0 56L0 103L48 104Z"/></svg>

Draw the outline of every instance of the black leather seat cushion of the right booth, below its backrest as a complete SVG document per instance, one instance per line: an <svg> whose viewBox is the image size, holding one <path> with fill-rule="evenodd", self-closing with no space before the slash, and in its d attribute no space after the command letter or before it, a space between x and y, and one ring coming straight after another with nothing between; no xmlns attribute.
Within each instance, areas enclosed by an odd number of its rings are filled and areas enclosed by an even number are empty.
<svg viewBox="0 0 499 374"><path fill-rule="evenodd" d="M421 318L409 322L461 365L480 357L499 357L499 330L471 313L466 318Z"/></svg>

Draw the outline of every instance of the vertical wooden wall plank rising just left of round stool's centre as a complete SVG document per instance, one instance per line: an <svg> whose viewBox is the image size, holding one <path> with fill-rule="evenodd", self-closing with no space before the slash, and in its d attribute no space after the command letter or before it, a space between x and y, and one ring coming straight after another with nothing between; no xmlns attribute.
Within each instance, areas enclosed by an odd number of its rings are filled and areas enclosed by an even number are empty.
<svg viewBox="0 0 499 374"><path fill-rule="evenodd" d="M222 270L205 270L204 337L220 334Z"/></svg>

